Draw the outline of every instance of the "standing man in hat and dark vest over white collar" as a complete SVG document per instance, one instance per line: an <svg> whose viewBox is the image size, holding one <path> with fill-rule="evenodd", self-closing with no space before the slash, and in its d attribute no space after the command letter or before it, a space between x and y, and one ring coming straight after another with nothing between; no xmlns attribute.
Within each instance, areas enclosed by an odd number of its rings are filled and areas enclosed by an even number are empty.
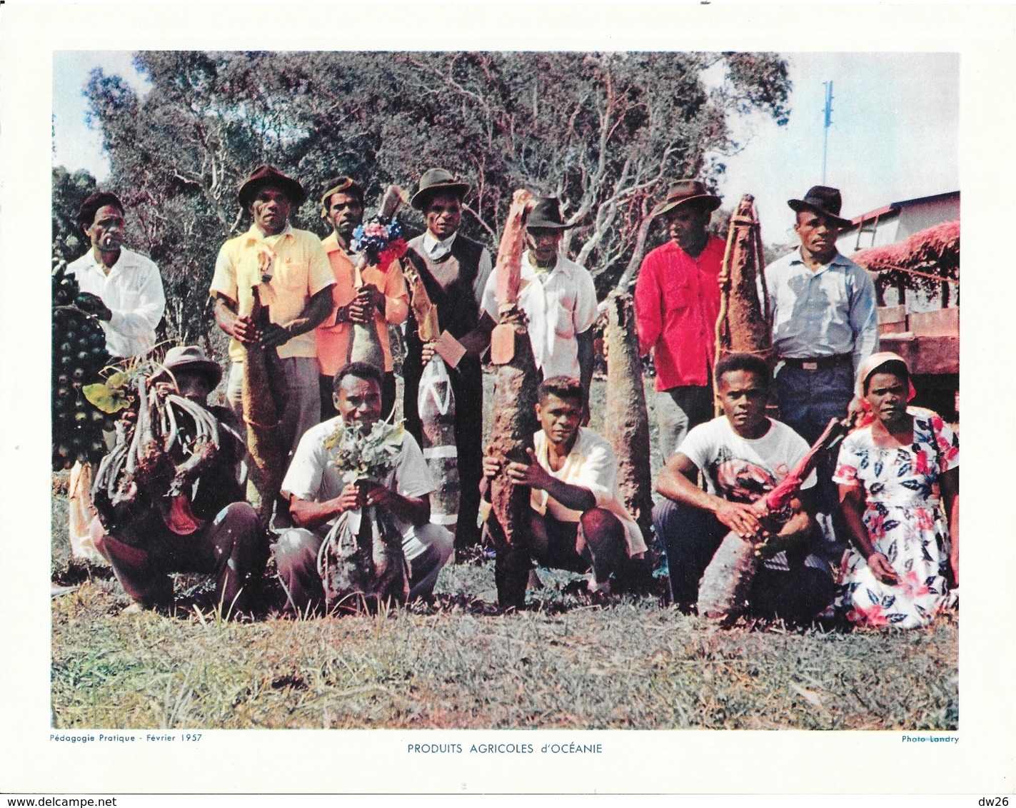
<svg viewBox="0 0 1016 808"><path fill-rule="evenodd" d="M477 516L483 476L484 379L480 357L491 340L494 321L483 312L484 287L492 269L491 254L483 245L458 232L462 197L469 190L443 169L429 169L410 204L424 214L427 232L408 243L405 260L420 275L431 301L437 306L438 325L464 348L451 374L455 393L455 444L461 498L455 548L459 552L480 543ZM444 337L443 337L444 338ZM421 441L417 394L426 361L433 347L424 345L417 322L409 317L405 329L403 363L405 427Z"/></svg>

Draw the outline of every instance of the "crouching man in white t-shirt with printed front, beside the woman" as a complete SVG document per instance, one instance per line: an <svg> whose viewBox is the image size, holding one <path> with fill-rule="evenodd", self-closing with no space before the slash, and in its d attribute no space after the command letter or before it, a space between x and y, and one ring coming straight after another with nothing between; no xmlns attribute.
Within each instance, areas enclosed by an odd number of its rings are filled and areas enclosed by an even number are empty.
<svg viewBox="0 0 1016 808"><path fill-rule="evenodd" d="M666 551L671 597L679 606L698 600L698 585L723 537L735 532L765 540L765 560L752 584L748 611L804 623L833 597L828 565L815 530L815 472L790 500L790 516L775 536L751 502L789 473L808 445L786 424L767 418L771 376L757 356L734 353L716 363L716 394L723 414L694 427L663 467L653 525ZM695 484L701 471L708 486Z"/></svg>

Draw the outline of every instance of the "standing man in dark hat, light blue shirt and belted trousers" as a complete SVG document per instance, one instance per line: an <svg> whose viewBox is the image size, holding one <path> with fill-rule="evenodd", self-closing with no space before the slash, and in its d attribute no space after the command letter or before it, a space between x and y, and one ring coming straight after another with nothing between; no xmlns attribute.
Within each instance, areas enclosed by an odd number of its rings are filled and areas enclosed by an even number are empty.
<svg viewBox="0 0 1016 808"><path fill-rule="evenodd" d="M842 198L835 188L817 185L804 199L787 201L797 213L793 229L801 248L765 268L773 347L780 358L776 398L780 419L809 444L831 418L842 418L853 399L856 368L878 350L875 284L871 276L836 250ZM831 468L819 467L818 522L826 534L830 560L842 542L836 486Z"/></svg>

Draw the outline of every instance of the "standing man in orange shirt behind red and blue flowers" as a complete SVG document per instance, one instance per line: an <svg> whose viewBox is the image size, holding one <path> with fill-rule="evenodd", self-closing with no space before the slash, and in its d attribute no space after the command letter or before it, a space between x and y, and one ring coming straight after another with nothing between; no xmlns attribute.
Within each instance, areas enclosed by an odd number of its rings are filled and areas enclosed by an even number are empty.
<svg viewBox="0 0 1016 808"><path fill-rule="evenodd" d="M356 258L348 253L353 232L364 218L364 190L348 177L328 184L321 196L321 217L332 226L321 240L334 273L331 287L332 310L317 329L318 361L321 364L321 419L337 415L332 403L332 378L350 361L350 341L355 323L374 323L384 354L384 382L381 385L381 417L387 418L395 406L395 374L391 358L388 325L400 326L409 314L409 293L398 261L382 272L376 266L362 270L357 285Z"/></svg>

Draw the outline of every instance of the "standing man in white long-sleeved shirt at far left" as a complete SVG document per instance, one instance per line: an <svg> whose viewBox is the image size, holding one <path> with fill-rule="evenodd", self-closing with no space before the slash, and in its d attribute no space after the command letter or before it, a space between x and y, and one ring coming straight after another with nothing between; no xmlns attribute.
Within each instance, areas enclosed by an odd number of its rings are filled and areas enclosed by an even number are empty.
<svg viewBox="0 0 1016 808"><path fill-rule="evenodd" d="M123 246L123 203L115 194L92 194L81 204L77 222L91 242L91 249L67 267L82 294L78 307L102 321L113 356L151 350L166 294L158 267Z"/></svg>

